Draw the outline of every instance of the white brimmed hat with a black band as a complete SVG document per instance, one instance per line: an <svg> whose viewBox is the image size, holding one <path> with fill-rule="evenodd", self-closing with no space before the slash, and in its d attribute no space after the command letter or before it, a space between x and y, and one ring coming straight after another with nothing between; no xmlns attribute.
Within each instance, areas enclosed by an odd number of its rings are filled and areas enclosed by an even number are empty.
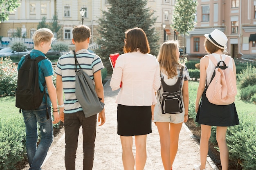
<svg viewBox="0 0 256 170"><path fill-rule="evenodd" d="M210 34L204 34L204 36L215 46L220 49L227 49L227 36L222 31L215 29Z"/></svg>

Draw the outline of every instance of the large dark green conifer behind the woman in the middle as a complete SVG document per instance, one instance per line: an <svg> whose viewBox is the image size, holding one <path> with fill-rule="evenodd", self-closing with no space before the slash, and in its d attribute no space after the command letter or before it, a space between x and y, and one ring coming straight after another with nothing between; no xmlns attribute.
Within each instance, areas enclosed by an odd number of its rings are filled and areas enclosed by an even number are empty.
<svg viewBox="0 0 256 170"><path fill-rule="evenodd" d="M102 11L103 17L99 18L99 49L95 52L103 60L104 66L112 72L109 54L122 54L124 48L125 31L139 27L147 35L150 53L157 55L159 50L159 36L155 31L156 18L154 12L146 8L147 0L109 0L110 8Z"/></svg>

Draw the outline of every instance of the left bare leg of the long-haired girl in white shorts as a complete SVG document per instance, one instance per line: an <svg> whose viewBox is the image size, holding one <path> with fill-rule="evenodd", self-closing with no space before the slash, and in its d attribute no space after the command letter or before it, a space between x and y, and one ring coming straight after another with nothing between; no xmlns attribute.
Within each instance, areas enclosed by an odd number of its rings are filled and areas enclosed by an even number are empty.
<svg viewBox="0 0 256 170"><path fill-rule="evenodd" d="M160 137L161 157L164 170L171 170L171 157L170 157L170 123L169 122L156 122L157 129Z"/></svg>

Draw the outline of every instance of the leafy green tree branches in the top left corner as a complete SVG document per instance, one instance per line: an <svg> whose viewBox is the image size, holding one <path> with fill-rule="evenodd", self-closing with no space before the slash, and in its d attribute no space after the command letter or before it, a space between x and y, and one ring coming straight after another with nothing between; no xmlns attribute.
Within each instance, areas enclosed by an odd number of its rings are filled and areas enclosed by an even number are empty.
<svg viewBox="0 0 256 170"><path fill-rule="evenodd" d="M20 6L20 0L0 0L0 23L9 20L9 13Z"/></svg>

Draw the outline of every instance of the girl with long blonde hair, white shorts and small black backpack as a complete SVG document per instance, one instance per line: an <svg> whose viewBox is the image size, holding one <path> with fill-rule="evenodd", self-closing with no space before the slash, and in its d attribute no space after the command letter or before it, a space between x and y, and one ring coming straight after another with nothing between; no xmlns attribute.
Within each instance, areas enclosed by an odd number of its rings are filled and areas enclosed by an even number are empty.
<svg viewBox="0 0 256 170"><path fill-rule="evenodd" d="M189 113L189 72L186 66L180 64L179 43L177 41L167 41L162 44L157 60L160 70L167 85L174 85L183 67L182 79L180 82L183 112L177 114L162 114L160 102L157 95L157 104L154 108L153 121L157 125L161 144L161 157L164 170L172 170L173 162L178 150L178 142L182 123L188 120ZM159 93L159 92L157 92Z"/></svg>

